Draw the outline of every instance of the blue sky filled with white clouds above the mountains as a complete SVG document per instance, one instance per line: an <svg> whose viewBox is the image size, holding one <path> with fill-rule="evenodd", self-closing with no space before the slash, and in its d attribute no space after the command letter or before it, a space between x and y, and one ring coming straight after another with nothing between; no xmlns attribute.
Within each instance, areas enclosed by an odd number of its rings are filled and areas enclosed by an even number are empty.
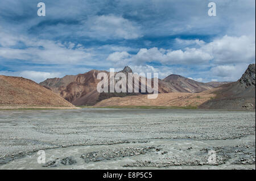
<svg viewBox="0 0 256 181"><path fill-rule="evenodd" d="M237 81L251 63L254 0L0 0L2 75L39 83L128 65L159 78Z"/></svg>

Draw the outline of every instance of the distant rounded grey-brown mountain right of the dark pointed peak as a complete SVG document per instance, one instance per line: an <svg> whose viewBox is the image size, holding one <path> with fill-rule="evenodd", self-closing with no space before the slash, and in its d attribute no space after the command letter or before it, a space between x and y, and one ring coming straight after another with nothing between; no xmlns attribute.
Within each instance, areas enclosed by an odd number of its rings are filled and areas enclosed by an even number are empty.
<svg viewBox="0 0 256 181"><path fill-rule="evenodd" d="M168 92L201 92L214 87L218 87L226 82L197 82L189 78L185 78L181 75L171 74L168 77L163 79L164 82L167 82L167 87L171 90ZM162 82L163 83L163 82Z"/></svg>

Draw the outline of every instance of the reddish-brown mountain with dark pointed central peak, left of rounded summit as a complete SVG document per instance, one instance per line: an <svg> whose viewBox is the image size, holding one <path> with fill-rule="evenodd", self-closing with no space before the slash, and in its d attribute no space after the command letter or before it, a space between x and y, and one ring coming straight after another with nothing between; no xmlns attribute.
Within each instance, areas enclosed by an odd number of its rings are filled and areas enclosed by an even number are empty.
<svg viewBox="0 0 256 181"><path fill-rule="evenodd" d="M97 79L97 75L101 72L105 72L106 74L108 74L109 78L110 73L108 71L91 70L84 74L66 75L63 78L49 78L46 79L46 81L41 82L40 85L52 90L56 94L59 94L64 99L68 100L68 102L71 102L76 106L90 106L96 104L97 102L100 102L101 100L109 99L112 97L124 97L141 94L141 80L139 80L139 93L98 92L97 84L101 80ZM133 73L129 66L126 66L123 70L116 72L115 74L120 72L125 73L126 77L128 73ZM136 77L137 75L134 76ZM115 83L116 82L117 80L115 80ZM109 82L108 85L110 85ZM128 82L126 83L126 86L128 86ZM148 94L148 92L143 94Z"/></svg>

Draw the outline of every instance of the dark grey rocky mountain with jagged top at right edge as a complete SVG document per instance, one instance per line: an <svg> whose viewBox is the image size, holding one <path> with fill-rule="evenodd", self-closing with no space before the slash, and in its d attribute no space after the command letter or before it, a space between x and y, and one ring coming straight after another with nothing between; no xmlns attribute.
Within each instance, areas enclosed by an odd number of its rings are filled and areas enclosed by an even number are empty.
<svg viewBox="0 0 256 181"><path fill-rule="evenodd" d="M255 109L255 64L250 64L237 82L218 87L216 98L200 106L206 109L254 110Z"/></svg>

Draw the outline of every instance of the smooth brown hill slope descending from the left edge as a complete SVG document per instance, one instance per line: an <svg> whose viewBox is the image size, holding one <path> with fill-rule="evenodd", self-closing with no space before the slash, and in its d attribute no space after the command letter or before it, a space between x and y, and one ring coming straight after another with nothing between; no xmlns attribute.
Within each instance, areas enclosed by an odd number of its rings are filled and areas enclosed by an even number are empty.
<svg viewBox="0 0 256 181"><path fill-rule="evenodd" d="M0 75L0 106L75 107L38 83Z"/></svg>

